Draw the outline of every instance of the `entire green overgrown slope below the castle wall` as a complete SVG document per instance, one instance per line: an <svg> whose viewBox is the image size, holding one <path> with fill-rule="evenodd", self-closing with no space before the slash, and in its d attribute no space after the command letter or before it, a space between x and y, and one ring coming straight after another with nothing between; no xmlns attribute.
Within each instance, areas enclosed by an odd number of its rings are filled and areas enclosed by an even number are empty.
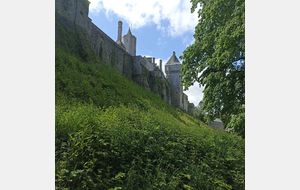
<svg viewBox="0 0 300 190"><path fill-rule="evenodd" d="M64 27L67 26L67 27ZM56 189L245 189L245 141L120 76L56 20Z"/></svg>

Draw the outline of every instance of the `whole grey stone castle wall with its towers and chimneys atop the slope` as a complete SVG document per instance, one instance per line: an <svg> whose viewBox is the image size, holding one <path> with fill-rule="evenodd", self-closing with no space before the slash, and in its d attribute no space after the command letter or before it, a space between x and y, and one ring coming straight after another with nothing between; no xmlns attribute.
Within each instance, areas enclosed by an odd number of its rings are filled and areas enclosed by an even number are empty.
<svg viewBox="0 0 300 190"><path fill-rule="evenodd" d="M122 22L118 23L118 38L112 40L99 29L88 17L89 2L87 0L55 0L55 17L62 23L70 22L86 32L96 56L104 63L114 67L116 71L151 91L170 105L194 115L194 104L180 87L179 77L181 64L173 52L166 64L166 77L162 71L162 62L155 64L155 58L136 55L137 39L130 28L122 36Z"/></svg>

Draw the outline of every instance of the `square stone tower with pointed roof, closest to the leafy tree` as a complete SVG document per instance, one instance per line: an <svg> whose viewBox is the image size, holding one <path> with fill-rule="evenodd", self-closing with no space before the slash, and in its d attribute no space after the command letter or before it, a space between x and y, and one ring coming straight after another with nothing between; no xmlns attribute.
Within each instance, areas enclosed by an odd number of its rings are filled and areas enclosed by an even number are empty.
<svg viewBox="0 0 300 190"><path fill-rule="evenodd" d="M172 57L165 65L166 78L170 84L171 105L175 108L183 108L183 87L180 86L181 64L173 51Z"/></svg>

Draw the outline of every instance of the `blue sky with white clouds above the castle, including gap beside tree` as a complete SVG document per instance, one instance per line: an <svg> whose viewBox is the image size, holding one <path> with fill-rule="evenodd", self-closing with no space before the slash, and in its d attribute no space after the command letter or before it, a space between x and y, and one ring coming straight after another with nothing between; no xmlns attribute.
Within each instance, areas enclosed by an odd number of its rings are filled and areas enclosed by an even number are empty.
<svg viewBox="0 0 300 190"><path fill-rule="evenodd" d="M194 42L198 9L191 13L189 0L89 1L89 17L95 25L116 41L118 21L122 21L122 36L130 27L137 38L136 54L155 57L156 62L161 59L163 70L173 51L179 59L186 47ZM184 93L197 105L203 97L202 91L203 88L195 83Z"/></svg>

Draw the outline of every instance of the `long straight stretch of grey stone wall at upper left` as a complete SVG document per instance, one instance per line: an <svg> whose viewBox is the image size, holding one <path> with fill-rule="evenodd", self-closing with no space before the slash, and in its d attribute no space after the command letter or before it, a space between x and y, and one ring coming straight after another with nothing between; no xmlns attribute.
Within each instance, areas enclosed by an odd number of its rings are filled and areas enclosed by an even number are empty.
<svg viewBox="0 0 300 190"><path fill-rule="evenodd" d="M55 0L56 16L82 27L87 32L96 55L114 67L120 75L132 80L133 57L92 23L88 17L88 7L86 0Z"/></svg>

